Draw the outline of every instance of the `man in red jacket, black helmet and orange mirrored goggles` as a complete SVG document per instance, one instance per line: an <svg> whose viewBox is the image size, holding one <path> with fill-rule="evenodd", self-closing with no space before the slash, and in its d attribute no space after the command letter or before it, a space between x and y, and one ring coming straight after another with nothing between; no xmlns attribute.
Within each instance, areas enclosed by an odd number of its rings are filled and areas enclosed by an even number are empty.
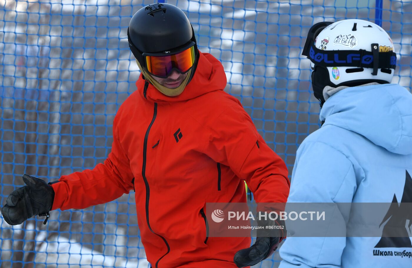
<svg viewBox="0 0 412 268"><path fill-rule="evenodd" d="M246 202L245 180L256 202L285 203L290 186L285 163L240 102L223 91L222 64L199 52L182 10L159 3L140 9L128 38L141 75L115 116L108 158L49 185L24 175L26 186L9 195L3 217L20 224L135 190L140 234L153 268L245 267L267 258L283 233L258 237L252 247L250 237L208 237L205 206Z"/></svg>

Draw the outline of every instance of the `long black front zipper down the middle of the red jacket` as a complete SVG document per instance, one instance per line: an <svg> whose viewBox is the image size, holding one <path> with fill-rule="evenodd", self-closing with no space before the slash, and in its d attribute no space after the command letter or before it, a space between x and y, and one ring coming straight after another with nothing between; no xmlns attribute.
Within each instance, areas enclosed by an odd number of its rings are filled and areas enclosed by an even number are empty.
<svg viewBox="0 0 412 268"><path fill-rule="evenodd" d="M146 81L147 82L147 81ZM148 85L148 83L147 83ZM146 85L145 85L145 89L146 89ZM145 92L145 91L144 91ZM145 94L145 93L144 93ZM146 96L146 95L145 95ZM146 130L146 134L145 134L145 140L143 142L143 166L142 166L142 176L143 176L143 180L145 181L145 186L146 186L146 221L147 221L147 227L149 227L150 232L154 233L155 235L159 236L160 238L162 238L162 240L164 241L164 243L166 244L167 247L167 252L166 254L164 254L162 257L160 257L160 259L157 260L156 262L156 268L157 265L159 264L159 261L166 256L167 254L169 254L170 252L170 247L169 244L167 243L166 239L164 239L164 237L162 237L161 235L158 235L157 233L155 233L152 228L150 227L150 223L149 223L149 198L150 198L150 188L149 188L149 183L147 182L147 178L146 178L146 154L147 154L147 138L149 138L149 132L150 132L150 128L152 128L153 123L155 122L157 116L157 103L155 102L155 110L153 111L153 118L152 118L152 122L150 122L149 127Z"/></svg>

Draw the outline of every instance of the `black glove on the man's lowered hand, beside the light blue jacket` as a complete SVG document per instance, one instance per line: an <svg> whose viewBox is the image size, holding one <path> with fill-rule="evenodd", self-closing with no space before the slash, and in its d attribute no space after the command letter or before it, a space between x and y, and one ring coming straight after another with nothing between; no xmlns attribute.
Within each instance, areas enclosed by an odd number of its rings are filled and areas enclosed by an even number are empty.
<svg viewBox="0 0 412 268"><path fill-rule="evenodd" d="M281 222L281 223L279 223ZM255 244L247 249L241 249L234 255L234 263L237 267L253 266L260 263L278 248L279 243L286 237L283 221L262 220L258 226L279 226L279 229L258 229Z"/></svg>

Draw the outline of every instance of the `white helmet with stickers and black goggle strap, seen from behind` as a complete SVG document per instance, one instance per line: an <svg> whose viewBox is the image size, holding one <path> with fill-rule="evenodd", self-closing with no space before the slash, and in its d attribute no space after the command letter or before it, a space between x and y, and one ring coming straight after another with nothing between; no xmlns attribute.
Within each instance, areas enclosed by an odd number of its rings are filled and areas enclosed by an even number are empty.
<svg viewBox="0 0 412 268"><path fill-rule="evenodd" d="M315 97L323 88L391 83L396 53L388 33L361 19L320 22L311 27L302 55L311 60Z"/></svg>

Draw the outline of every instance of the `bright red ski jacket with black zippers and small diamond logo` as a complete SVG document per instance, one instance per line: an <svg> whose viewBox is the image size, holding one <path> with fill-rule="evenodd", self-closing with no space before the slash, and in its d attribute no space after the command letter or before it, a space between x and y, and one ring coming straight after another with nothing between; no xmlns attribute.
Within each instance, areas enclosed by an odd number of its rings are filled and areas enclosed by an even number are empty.
<svg viewBox="0 0 412 268"><path fill-rule="evenodd" d="M153 268L236 268L250 237L208 237L206 202L286 202L288 170L240 102L223 91L222 64L200 53L176 97L142 76L113 122L108 158L52 184L52 209L83 209L136 191L141 240Z"/></svg>

